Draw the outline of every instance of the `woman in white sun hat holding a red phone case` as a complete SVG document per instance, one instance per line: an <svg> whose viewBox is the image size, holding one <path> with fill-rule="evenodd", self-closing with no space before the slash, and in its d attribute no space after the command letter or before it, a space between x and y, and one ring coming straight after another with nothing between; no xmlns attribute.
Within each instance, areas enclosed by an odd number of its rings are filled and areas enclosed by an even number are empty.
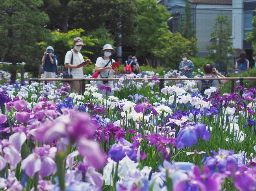
<svg viewBox="0 0 256 191"><path fill-rule="evenodd" d="M111 59L110 56L115 53L115 50L112 48L110 44L105 44L103 49L101 50L103 54L102 57L98 57L95 63L96 71L99 73L98 78L113 78L114 74L117 74L118 68L115 67L112 69L112 63L115 60ZM100 86L109 86L111 89L113 88L113 81L97 81L97 88L100 94L102 94L103 98L105 98L106 90L102 89ZM113 96L112 91L108 91L108 96Z"/></svg>

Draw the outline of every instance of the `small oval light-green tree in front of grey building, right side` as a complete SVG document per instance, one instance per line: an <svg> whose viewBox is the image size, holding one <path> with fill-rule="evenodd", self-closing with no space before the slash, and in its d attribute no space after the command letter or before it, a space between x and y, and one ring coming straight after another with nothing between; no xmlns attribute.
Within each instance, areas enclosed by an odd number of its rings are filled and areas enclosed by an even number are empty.
<svg viewBox="0 0 256 191"><path fill-rule="evenodd" d="M209 51L209 57L213 61L220 63L220 66L227 70L230 59L232 59L231 54L235 51L230 38L231 28L228 16L218 16L213 29L214 31L211 33L212 42L206 46Z"/></svg>

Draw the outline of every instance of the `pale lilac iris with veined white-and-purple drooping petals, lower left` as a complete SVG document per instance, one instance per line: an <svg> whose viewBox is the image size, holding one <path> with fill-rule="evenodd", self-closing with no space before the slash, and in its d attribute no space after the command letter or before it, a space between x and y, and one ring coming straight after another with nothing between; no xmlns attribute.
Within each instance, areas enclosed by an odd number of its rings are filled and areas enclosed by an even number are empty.
<svg viewBox="0 0 256 191"><path fill-rule="evenodd" d="M35 147L32 154L28 155L21 162L22 169L33 178L34 174L39 172L43 178L56 173L56 163L54 157L57 148L50 147L50 145L43 145L43 147Z"/></svg>

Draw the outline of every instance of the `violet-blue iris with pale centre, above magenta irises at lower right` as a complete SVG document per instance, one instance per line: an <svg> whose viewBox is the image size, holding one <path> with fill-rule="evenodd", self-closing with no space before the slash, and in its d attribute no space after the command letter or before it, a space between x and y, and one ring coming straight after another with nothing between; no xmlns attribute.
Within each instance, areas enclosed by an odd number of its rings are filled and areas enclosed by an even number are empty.
<svg viewBox="0 0 256 191"><path fill-rule="evenodd" d="M211 171L215 171L217 167L220 173L224 173L227 171L227 167L230 164L234 165L234 167L237 169L237 158L232 156L234 151L219 149L218 152L211 151L211 154L213 154L213 156L207 157L205 163L205 165L208 166Z"/></svg>

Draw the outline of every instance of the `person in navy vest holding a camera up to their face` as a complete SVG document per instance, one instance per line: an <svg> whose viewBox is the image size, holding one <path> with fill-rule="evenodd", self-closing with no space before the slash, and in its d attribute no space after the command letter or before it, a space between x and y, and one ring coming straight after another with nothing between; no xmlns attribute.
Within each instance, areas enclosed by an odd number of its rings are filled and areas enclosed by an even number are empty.
<svg viewBox="0 0 256 191"><path fill-rule="evenodd" d="M42 64L44 64L44 78L55 78L57 72L57 56L53 53L54 48L48 46L44 52L42 58ZM55 81L50 81L51 84L55 85Z"/></svg>

